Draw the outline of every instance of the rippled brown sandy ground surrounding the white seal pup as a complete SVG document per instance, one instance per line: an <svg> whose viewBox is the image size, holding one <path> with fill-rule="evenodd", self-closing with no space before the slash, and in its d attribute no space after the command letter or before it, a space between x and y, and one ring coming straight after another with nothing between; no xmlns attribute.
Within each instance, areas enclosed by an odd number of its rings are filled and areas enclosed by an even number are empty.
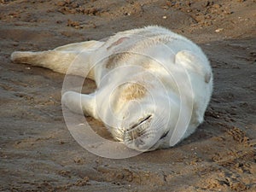
<svg viewBox="0 0 256 192"><path fill-rule="evenodd" d="M255 0L0 1L0 190L256 191L255 10ZM10 61L15 50L147 25L191 38L212 63L205 123L175 148L125 160L90 154L62 117L64 75Z"/></svg>

